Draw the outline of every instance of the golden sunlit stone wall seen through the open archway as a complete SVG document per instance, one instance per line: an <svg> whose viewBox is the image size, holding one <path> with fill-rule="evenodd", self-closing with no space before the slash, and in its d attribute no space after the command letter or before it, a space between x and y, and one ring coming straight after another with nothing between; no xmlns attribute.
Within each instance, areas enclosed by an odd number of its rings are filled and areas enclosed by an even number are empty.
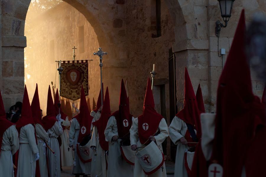
<svg viewBox="0 0 266 177"><path fill-rule="evenodd" d="M29 9L31 8L34 8L32 4ZM100 68L98 58L93 56L93 52L98 50L99 43L93 27L77 9L61 2L35 18L27 16L25 36L25 84L31 101L38 83L40 106L44 115L48 85L53 81L56 88L59 88L59 74L56 70L58 65L55 60L71 61L74 45L77 48L76 60L93 59L88 68L89 71L91 68L89 95L91 100L94 95L98 96Z"/></svg>

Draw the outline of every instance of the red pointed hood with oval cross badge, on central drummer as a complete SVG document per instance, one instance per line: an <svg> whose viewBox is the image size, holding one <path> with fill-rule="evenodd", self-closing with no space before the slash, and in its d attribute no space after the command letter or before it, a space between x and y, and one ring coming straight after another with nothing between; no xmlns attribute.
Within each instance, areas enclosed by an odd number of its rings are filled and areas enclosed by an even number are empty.
<svg viewBox="0 0 266 177"><path fill-rule="evenodd" d="M150 78L148 78L147 89L143 105L143 112L142 115L138 117L139 138L142 144L144 144L150 136L152 136L154 133L157 132L157 129L159 127L162 118L163 116L161 114L158 114L155 110Z"/></svg>

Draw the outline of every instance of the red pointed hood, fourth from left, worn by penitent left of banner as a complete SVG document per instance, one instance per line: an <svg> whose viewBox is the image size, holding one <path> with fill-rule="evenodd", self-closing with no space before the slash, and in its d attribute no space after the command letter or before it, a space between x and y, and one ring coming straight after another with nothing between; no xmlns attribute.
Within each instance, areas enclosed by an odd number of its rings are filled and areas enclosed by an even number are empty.
<svg viewBox="0 0 266 177"><path fill-rule="evenodd" d="M43 117L43 125L46 131L53 127L56 122L56 112L54 109L53 98L51 93L51 88L49 86L48 95L47 95L47 109L46 116Z"/></svg>

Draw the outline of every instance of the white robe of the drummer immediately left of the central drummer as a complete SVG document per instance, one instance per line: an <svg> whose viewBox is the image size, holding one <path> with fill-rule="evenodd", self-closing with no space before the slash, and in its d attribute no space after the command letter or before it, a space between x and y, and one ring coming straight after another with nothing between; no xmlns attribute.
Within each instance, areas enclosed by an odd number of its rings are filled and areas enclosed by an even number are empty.
<svg viewBox="0 0 266 177"><path fill-rule="evenodd" d="M132 122L133 121L134 117L132 117ZM116 118L114 116L109 118L104 135L109 141L107 177L133 177L134 166L127 163L121 154L121 139L112 141L113 136L118 136Z"/></svg>

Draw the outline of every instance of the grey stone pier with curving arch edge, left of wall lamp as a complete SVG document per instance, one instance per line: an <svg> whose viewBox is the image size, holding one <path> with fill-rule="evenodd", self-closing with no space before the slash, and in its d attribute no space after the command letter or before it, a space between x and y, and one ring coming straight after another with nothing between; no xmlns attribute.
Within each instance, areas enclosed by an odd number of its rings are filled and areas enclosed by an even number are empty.
<svg viewBox="0 0 266 177"><path fill-rule="evenodd" d="M165 2L174 24L173 52L176 55L176 95L178 110L181 110L184 104L185 67L188 68L194 91L200 82L204 86L205 102L209 100L208 3L193 0L166 0Z"/></svg>

